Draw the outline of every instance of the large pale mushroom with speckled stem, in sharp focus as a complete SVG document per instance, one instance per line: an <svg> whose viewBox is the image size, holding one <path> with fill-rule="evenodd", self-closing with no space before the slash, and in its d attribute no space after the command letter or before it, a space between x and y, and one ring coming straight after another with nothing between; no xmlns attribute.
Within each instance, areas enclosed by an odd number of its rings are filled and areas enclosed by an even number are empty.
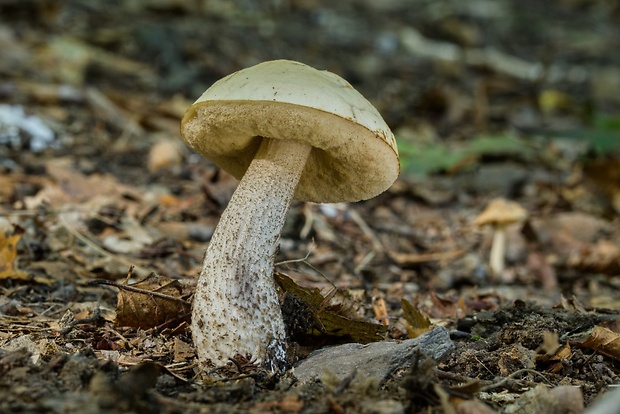
<svg viewBox="0 0 620 414"><path fill-rule="evenodd" d="M240 179L194 295L198 358L213 366L250 355L281 371L286 337L273 264L291 200L352 202L382 193L400 170L394 135L344 79L288 60L214 83L185 113L181 134Z"/></svg>

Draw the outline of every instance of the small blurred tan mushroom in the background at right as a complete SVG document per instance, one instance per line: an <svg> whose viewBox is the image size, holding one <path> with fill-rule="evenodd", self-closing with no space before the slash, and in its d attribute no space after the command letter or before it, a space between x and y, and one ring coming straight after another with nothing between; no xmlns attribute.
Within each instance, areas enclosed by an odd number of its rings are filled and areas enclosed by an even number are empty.
<svg viewBox="0 0 620 414"><path fill-rule="evenodd" d="M490 224L493 226L493 243L489 266L493 275L499 276L505 267L506 227L513 223L524 221L527 211L518 203L503 198L496 198L489 202L487 207L476 217L474 223L478 226Z"/></svg>

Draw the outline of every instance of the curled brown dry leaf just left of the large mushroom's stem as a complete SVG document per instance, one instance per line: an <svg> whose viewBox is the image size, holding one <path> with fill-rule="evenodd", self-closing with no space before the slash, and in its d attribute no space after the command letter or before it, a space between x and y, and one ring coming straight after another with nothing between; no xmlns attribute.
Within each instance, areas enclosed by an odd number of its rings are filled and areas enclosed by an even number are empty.
<svg viewBox="0 0 620 414"><path fill-rule="evenodd" d="M189 287L178 280L154 273L131 285L99 281L119 288L116 325L153 328L166 322L180 323L189 318Z"/></svg>

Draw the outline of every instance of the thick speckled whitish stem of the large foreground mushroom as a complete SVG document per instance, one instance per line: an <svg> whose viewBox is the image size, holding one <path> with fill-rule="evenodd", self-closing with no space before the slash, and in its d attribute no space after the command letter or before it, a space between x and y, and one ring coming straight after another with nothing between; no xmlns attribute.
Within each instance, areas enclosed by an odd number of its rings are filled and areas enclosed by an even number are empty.
<svg viewBox="0 0 620 414"><path fill-rule="evenodd" d="M312 147L263 138L207 248L191 330L202 363L251 355L272 371L285 363L273 263L286 214Z"/></svg>

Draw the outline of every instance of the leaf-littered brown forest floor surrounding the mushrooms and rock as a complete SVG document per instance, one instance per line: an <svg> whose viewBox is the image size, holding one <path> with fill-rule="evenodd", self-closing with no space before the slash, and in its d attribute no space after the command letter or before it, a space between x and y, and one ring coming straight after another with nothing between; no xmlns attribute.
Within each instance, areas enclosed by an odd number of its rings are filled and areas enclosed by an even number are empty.
<svg viewBox="0 0 620 414"><path fill-rule="evenodd" d="M0 413L582 412L619 383L619 48L604 0L0 0ZM179 122L280 58L347 79L401 156L374 199L292 205L290 362L445 327L442 360L199 369L191 294L237 181ZM494 271L500 198L524 214Z"/></svg>

